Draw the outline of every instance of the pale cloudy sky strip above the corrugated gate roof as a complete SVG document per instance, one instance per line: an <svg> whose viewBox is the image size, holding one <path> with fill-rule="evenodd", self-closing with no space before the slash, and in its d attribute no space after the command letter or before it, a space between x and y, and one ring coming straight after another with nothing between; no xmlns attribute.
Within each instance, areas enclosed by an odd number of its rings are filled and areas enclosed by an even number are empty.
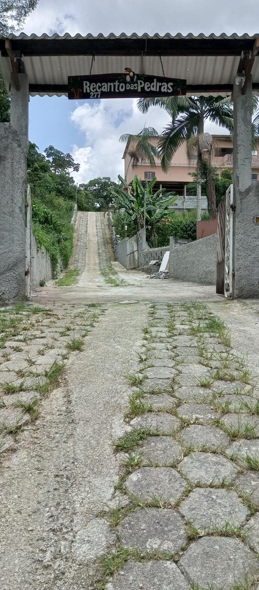
<svg viewBox="0 0 259 590"><path fill-rule="evenodd" d="M258 2L246 0L217 0L217 9L212 0L39 0L38 6L29 16L25 32L57 31L71 35L99 32L131 34L148 32L161 35L200 32L206 35L214 32L231 34L244 32L254 34L259 16ZM258 28L258 27L257 27Z"/></svg>

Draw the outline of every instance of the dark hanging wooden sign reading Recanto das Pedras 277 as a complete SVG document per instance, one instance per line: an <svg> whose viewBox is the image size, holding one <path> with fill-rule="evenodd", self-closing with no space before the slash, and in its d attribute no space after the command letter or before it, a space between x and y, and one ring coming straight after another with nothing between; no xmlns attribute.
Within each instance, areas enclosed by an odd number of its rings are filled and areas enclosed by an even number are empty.
<svg viewBox="0 0 259 590"><path fill-rule="evenodd" d="M125 68L125 74L98 76L69 76L69 99L121 99L186 94L186 80L135 74Z"/></svg>

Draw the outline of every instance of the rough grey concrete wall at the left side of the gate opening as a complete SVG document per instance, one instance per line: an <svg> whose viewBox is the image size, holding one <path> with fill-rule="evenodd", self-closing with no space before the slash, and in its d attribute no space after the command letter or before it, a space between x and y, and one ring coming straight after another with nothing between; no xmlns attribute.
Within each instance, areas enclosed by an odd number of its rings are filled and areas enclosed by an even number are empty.
<svg viewBox="0 0 259 590"><path fill-rule="evenodd" d="M25 296L26 169L18 133L0 123L0 302Z"/></svg>

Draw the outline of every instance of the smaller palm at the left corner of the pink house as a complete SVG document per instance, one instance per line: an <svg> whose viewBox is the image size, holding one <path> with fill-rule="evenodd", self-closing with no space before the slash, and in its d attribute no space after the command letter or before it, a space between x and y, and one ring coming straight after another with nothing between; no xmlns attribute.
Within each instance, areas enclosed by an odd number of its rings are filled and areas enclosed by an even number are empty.
<svg viewBox="0 0 259 590"><path fill-rule="evenodd" d="M127 173L129 166L132 163L132 168L138 166L139 163L145 162L148 160L152 168L155 168L155 157L158 158L157 148L150 143L152 137L157 137L158 133L154 129L154 127L144 127L141 129L140 133L137 135L131 135L131 133L124 133L119 137L119 141L121 143L129 142L129 146L133 146L131 150L128 150L129 155L129 163L127 171L125 172L125 179L127 178Z"/></svg>

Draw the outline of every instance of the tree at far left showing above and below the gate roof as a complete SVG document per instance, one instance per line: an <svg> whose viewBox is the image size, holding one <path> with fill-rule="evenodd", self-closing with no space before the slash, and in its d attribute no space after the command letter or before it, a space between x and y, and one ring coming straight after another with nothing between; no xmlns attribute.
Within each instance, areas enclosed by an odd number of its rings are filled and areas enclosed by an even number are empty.
<svg viewBox="0 0 259 590"><path fill-rule="evenodd" d="M0 33L8 35L22 27L38 0L0 0ZM10 120L10 99L0 72L0 123Z"/></svg>

